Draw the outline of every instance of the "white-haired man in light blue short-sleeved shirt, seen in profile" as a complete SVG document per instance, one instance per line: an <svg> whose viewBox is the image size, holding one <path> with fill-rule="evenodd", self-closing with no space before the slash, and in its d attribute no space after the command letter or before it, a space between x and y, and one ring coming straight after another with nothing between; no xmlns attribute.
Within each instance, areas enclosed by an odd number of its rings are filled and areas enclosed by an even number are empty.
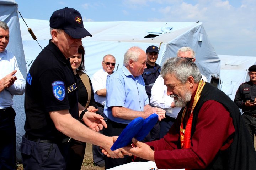
<svg viewBox="0 0 256 170"><path fill-rule="evenodd" d="M122 130L137 117L147 118L156 113L159 120L165 111L149 105L142 73L146 68L147 56L139 47L131 47L124 54L124 66L107 78L107 95L104 114L108 118L106 136L119 136ZM112 159L105 157L105 168L131 162L130 157Z"/></svg>

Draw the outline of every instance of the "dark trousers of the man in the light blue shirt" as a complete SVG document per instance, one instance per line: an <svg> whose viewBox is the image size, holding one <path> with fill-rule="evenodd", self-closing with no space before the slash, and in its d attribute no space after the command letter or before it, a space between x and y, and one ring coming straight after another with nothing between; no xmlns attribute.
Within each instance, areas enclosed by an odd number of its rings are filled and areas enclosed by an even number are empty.
<svg viewBox="0 0 256 170"><path fill-rule="evenodd" d="M108 128L104 130L106 136L119 136L127 124L116 123L113 121L107 121ZM105 169L113 168L119 165L132 162L132 158L125 155L124 158L112 159L105 156Z"/></svg>

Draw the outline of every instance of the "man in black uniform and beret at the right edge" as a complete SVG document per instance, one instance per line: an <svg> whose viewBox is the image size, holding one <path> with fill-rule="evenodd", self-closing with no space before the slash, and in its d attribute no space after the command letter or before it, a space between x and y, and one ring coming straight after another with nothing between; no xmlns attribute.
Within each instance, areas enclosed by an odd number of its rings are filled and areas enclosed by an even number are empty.
<svg viewBox="0 0 256 170"><path fill-rule="evenodd" d="M256 134L256 65L249 67L248 74L250 81L239 86L234 102L243 111L242 117L253 142Z"/></svg>

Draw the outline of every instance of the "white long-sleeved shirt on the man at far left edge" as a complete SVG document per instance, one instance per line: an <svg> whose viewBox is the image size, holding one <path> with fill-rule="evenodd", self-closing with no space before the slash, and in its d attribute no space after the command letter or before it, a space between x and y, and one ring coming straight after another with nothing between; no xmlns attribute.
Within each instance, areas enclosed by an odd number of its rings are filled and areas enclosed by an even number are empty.
<svg viewBox="0 0 256 170"><path fill-rule="evenodd" d="M14 84L0 92L0 109L5 109L13 105L13 95L22 95L25 92L25 80L18 68L18 63L14 55L7 50L0 53L0 79L17 70L14 75L17 80Z"/></svg>

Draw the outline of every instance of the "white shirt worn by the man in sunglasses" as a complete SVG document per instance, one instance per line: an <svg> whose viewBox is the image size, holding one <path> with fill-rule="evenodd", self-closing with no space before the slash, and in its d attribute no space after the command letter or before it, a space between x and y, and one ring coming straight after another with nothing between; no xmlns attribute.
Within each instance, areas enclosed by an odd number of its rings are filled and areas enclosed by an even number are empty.
<svg viewBox="0 0 256 170"><path fill-rule="evenodd" d="M105 70L102 68L98 70L94 75L92 76L92 88L94 91L94 100L97 103L100 103L102 105L105 105L106 103L106 96L99 96L97 95L96 91L101 89L106 89L106 82L107 77L109 74L105 72Z"/></svg>

